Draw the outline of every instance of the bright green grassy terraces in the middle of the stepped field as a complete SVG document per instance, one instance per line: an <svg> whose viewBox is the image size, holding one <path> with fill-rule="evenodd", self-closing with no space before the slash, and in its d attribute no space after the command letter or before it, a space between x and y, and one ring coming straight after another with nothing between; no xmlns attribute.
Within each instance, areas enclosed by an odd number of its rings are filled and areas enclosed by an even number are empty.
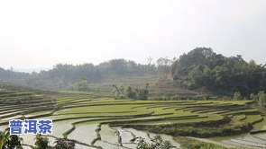
<svg viewBox="0 0 266 149"><path fill-rule="evenodd" d="M77 92L75 92L77 93ZM79 96L78 96L79 97ZM98 118L96 123L111 124L112 126L161 126L174 124L208 124L218 123L224 115L239 114L241 112L256 111L249 107L244 110L234 111L237 107L247 106L251 101L130 101L97 99L87 100L75 98L60 100L59 103L73 104L77 107L65 107L54 113L54 118ZM210 112L223 111L222 114ZM244 117L246 117L244 115ZM106 118L105 120L103 118ZM109 119L108 119L109 118ZM100 120L101 119L101 120ZM237 119L237 120L234 120ZM240 119L242 120L240 122ZM249 116L232 117L231 123L226 124L226 129L236 128L246 121L257 121L258 118ZM236 125L237 124L237 125ZM248 123L247 123L248 124ZM234 126L235 125L235 126ZM197 131L197 127L194 128ZM205 128L210 133L216 133L216 128ZM223 128L219 128L222 133ZM227 131L227 130L226 130ZM239 130L241 132L242 129ZM238 132L238 133L239 133ZM205 132L204 132L205 133ZM228 135L228 134L227 134Z"/></svg>

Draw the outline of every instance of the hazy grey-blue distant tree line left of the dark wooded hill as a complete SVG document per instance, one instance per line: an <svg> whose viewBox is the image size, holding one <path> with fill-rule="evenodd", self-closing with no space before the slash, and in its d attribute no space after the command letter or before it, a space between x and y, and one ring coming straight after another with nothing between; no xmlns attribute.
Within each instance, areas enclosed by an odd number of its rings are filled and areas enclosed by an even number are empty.
<svg viewBox="0 0 266 149"><path fill-rule="evenodd" d="M20 83L37 88L86 90L87 83L102 83L112 77L158 74L155 65L141 65L124 59L113 59L97 66L93 64L58 64L41 73L20 73L0 69L0 81Z"/></svg>

